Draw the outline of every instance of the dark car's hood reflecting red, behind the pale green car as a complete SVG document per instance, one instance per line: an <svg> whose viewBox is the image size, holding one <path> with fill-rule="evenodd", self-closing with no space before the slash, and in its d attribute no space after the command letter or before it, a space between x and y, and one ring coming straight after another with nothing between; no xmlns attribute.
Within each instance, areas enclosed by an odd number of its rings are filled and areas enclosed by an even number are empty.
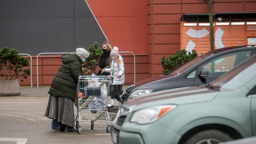
<svg viewBox="0 0 256 144"><path fill-rule="evenodd" d="M168 82L173 76L175 75L159 75L157 77L144 79L129 86L125 91L132 92L134 89L150 89L151 86Z"/></svg>

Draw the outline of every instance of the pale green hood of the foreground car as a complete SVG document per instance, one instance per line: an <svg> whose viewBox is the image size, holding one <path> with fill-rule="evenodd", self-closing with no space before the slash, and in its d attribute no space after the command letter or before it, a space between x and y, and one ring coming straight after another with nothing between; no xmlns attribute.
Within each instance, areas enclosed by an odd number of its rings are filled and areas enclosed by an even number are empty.
<svg viewBox="0 0 256 144"><path fill-rule="evenodd" d="M212 100L218 93L220 93L218 90L213 90L205 86L182 87L154 92L141 98L131 99L123 103L122 107L136 111L156 105L182 105L194 102L204 102Z"/></svg>

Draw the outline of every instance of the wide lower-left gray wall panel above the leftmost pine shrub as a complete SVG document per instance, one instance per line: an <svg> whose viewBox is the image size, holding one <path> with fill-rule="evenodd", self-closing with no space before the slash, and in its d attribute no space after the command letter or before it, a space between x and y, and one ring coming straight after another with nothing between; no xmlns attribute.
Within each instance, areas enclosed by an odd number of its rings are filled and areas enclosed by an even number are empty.
<svg viewBox="0 0 256 144"><path fill-rule="evenodd" d="M0 48L19 53L74 52L74 18L0 19Z"/></svg>

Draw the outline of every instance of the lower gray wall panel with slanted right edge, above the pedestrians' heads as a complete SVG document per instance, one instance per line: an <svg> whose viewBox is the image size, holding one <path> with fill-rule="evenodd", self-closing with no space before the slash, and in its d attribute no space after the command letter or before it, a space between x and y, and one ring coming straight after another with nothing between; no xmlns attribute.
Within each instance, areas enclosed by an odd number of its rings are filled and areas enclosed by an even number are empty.
<svg viewBox="0 0 256 144"><path fill-rule="evenodd" d="M75 18L75 47L88 48L95 41L101 44L106 38L95 18Z"/></svg>

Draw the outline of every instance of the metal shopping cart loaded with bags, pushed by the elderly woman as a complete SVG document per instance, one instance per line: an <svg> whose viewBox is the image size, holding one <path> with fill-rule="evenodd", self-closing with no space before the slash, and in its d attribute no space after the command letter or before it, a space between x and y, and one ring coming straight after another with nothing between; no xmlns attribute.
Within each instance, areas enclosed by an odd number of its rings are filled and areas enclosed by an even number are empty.
<svg viewBox="0 0 256 144"><path fill-rule="evenodd" d="M106 117L106 131L110 132L109 114L107 110L107 95L112 76L80 76L78 79L77 97L74 105L77 107L76 129L82 132L81 122L91 122L93 130L94 122L100 117ZM97 118L81 118L80 111L102 110Z"/></svg>

